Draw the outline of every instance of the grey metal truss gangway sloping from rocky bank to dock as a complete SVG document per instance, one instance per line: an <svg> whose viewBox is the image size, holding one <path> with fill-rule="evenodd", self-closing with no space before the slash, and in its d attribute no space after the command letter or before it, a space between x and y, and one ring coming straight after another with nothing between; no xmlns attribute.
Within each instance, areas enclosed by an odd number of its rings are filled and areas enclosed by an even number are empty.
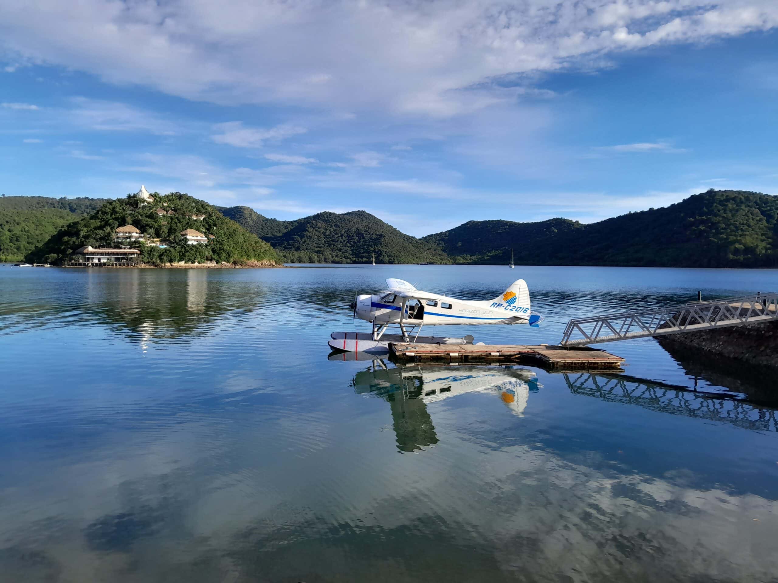
<svg viewBox="0 0 778 583"><path fill-rule="evenodd" d="M559 344L598 344L771 320L778 320L778 294L759 292L739 298L571 319Z"/></svg>

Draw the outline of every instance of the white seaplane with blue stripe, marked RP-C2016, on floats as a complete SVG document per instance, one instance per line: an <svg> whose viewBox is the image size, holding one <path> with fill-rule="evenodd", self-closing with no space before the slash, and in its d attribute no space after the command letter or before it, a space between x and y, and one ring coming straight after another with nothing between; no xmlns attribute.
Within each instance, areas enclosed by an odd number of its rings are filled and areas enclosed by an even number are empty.
<svg viewBox="0 0 778 583"><path fill-rule="evenodd" d="M385 354L392 342L419 344L473 344L467 334L461 338L419 336L422 326L475 324L529 324L538 326L541 316L530 310L530 292L523 279L514 281L496 298L483 301L461 300L447 295L422 292L408 281L387 279L380 294L356 295L349 305L354 319L373 325L372 332L333 332L329 345L336 351ZM398 326L399 334L387 334Z"/></svg>

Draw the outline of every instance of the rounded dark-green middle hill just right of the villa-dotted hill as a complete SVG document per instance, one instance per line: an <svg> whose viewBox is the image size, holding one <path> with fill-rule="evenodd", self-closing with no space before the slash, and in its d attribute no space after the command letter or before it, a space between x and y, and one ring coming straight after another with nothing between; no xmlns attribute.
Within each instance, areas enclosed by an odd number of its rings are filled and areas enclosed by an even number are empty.
<svg viewBox="0 0 778 583"><path fill-rule="evenodd" d="M255 224L261 229L289 227L278 235L262 236L289 263L365 264L373 260L373 253L379 264L419 263L425 259L425 253L429 263L450 263L446 254L435 246L405 235L365 211L340 215L320 212L296 221L279 221L282 226L266 228L263 225L267 222L262 217Z"/></svg>

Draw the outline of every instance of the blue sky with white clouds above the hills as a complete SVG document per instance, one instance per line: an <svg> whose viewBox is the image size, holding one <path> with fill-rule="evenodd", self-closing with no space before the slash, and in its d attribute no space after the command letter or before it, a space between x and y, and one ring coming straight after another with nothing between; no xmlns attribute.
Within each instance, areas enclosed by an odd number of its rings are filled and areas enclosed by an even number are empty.
<svg viewBox="0 0 778 583"><path fill-rule="evenodd" d="M424 236L778 194L776 0L0 0L0 190Z"/></svg>

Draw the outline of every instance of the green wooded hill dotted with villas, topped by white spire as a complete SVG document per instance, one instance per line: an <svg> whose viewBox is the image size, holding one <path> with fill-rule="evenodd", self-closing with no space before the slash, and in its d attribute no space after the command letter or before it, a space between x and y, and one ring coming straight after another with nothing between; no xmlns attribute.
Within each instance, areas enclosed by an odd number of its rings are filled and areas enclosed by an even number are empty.
<svg viewBox="0 0 778 583"><path fill-rule="evenodd" d="M164 264L176 261L204 263L206 261L275 261L275 251L268 243L247 232L224 217L215 207L188 194L153 194L152 204L142 204L136 197L110 201L92 214L72 222L58 231L46 243L26 257L28 261L48 261L61 264L73 257L82 246L115 247L116 229L132 225L139 229L146 240L159 239L166 248L132 243L141 250L141 260L147 264ZM159 210L165 211L160 215ZM202 219L190 215L205 215ZM207 244L187 245L180 235L185 229L195 229L215 238Z"/></svg>

